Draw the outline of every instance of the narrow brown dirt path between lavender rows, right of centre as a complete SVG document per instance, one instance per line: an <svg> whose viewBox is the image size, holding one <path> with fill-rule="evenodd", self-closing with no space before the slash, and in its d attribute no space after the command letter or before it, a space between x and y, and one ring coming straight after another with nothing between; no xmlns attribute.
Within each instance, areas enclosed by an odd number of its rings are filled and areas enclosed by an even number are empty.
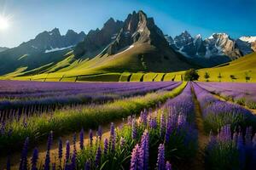
<svg viewBox="0 0 256 170"><path fill-rule="evenodd" d="M204 170L205 169L204 150L209 141L209 137L204 132L203 120L202 120L202 116L201 116L201 107L200 107L198 100L196 99L193 87L192 87L192 95L193 95L194 104L195 104L195 123L196 123L196 127L198 130L198 150L197 150L197 153L195 156L195 160L192 162L190 169Z"/></svg>

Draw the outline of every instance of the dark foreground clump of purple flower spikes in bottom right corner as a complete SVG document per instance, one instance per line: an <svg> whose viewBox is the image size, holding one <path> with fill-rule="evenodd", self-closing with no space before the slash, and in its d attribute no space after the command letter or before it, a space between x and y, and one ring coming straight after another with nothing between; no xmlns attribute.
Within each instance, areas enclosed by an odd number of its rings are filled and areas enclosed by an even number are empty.
<svg viewBox="0 0 256 170"><path fill-rule="evenodd" d="M232 131L231 126L221 127L217 136L210 135L206 149L207 164L212 169L254 169L256 166L256 133L247 127Z"/></svg>

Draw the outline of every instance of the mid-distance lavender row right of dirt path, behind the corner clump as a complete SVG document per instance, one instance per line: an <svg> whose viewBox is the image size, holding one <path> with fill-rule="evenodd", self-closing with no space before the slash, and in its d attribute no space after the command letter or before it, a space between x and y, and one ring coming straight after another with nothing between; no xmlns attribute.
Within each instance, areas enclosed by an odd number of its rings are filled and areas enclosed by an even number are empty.
<svg viewBox="0 0 256 170"><path fill-rule="evenodd" d="M217 132L220 127L230 124L232 127L247 124L253 125L255 116L251 111L243 108L241 105L231 104L229 102L215 98L212 94L201 88L193 82L196 97L201 105L202 116L207 131Z"/></svg>

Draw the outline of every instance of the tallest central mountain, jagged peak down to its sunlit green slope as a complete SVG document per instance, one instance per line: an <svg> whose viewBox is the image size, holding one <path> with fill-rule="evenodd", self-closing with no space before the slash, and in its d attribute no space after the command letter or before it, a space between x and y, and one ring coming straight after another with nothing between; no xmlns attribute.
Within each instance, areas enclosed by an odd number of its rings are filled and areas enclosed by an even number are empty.
<svg viewBox="0 0 256 170"><path fill-rule="evenodd" d="M182 54L169 47L153 18L139 11L128 15L115 40L101 54L73 70L122 72L179 71L188 68L191 65Z"/></svg>

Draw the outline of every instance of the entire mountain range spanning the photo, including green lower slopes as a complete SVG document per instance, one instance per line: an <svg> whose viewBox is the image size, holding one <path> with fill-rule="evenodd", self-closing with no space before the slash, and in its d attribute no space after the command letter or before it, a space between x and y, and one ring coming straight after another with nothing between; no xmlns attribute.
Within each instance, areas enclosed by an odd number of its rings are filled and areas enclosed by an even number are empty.
<svg viewBox="0 0 256 170"><path fill-rule="evenodd" d="M214 66L256 50L256 37L232 39L214 33L202 39L184 31L165 35L143 11L125 21L110 18L102 29L87 35L55 28L44 31L16 48L0 48L0 75L26 76L43 73L86 75L123 71L182 71Z"/></svg>

